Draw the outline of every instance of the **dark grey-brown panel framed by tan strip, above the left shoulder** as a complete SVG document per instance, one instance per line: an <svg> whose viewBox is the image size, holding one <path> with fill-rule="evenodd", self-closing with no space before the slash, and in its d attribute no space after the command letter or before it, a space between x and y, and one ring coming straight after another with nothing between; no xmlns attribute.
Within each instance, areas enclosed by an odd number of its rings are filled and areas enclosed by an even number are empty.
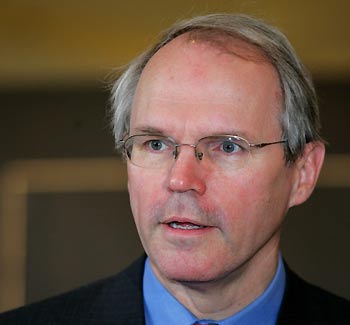
<svg viewBox="0 0 350 325"><path fill-rule="evenodd" d="M115 274L143 253L128 193L31 194L26 301Z"/></svg>

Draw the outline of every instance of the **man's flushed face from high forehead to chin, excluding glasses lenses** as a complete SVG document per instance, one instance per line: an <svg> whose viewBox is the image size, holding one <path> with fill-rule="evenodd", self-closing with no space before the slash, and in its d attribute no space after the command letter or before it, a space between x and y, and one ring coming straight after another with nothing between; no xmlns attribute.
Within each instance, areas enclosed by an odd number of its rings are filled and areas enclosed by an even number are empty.
<svg viewBox="0 0 350 325"><path fill-rule="evenodd" d="M215 134L237 134L251 143L277 141L280 107L278 76L268 63L183 35L142 73L130 135L151 130L185 144ZM158 277L163 282L225 279L267 256L275 258L295 178L282 145L255 150L240 169L208 167L193 150L182 146L168 168L128 162L132 212Z"/></svg>

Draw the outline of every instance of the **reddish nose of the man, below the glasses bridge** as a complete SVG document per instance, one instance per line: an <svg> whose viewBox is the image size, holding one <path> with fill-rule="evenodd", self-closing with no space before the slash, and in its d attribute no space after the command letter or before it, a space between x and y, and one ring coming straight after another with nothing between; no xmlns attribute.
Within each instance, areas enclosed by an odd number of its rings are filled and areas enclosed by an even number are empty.
<svg viewBox="0 0 350 325"><path fill-rule="evenodd" d="M168 186L173 192L195 191L203 195L206 191L205 172L193 149L191 146L182 147L170 169Z"/></svg>

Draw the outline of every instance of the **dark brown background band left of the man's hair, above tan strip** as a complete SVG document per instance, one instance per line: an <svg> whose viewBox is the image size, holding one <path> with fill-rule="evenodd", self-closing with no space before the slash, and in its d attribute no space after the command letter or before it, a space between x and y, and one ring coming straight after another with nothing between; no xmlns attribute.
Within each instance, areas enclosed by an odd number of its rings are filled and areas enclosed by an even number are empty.
<svg viewBox="0 0 350 325"><path fill-rule="evenodd" d="M0 166L14 159L114 154L103 89L0 91Z"/></svg>

